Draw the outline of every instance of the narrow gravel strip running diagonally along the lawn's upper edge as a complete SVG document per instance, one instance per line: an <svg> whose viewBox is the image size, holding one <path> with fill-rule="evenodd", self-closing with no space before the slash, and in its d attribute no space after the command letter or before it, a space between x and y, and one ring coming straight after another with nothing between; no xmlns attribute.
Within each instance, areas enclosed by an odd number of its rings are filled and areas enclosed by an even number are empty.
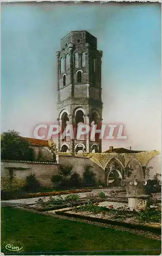
<svg viewBox="0 0 162 256"><path fill-rule="evenodd" d="M34 212L34 213L37 213L37 214L53 216L54 218L58 218L58 219L70 220L70 221L75 221L75 222L82 222L82 223L92 224L92 225L96 225L96 226L102 226L102 227L106 227L106 228L117 229L117 230L129 232L129 233L138 234L138 235L141 235L141 236L149 238L149 239L155 239L155 240L161 241L160 234L155 234L155 233L152 233L150 231L136 230L136 229L126 228L126 227L122 227L122 226L115 226L115 225L110 225L110 224L105 224L105 223L98 223L98 222L94 222L94 221L80 220L80 219L73 218L73 217L71 218L71 217L67 217L67 216L60 216L60 215L55 214L54 211L44 211L44 212L39 211L38 212L38 211L33 210L33 209L27 209L27 208L23 208L23 207L19 207L19 206L17 206L16 208L19 208L19 209L22 209L22 210L27 210L27 211L30 211L30 212Z"/></svg>

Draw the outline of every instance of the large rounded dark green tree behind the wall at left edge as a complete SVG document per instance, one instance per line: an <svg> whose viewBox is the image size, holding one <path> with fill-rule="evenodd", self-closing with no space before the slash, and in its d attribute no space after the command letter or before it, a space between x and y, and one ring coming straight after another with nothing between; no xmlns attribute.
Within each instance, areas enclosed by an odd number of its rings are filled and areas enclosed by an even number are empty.
<svg viewBox="0 0 162 256"><path fill-rule="evenodd" d="M33 161L34 152L28 140L9 130L1 135L1 159Z"/></svg>

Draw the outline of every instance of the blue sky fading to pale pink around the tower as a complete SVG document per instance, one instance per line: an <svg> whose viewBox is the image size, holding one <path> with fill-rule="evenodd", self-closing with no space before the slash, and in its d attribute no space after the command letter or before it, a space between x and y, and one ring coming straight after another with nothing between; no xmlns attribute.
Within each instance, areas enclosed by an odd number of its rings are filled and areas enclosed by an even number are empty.
<svg viewBox="0 0 162 256"><path fill-rule="evenodd" d="M2 132L33 137L37 124L55 122L55 52L73 30L98 38L103 122L124 123L128 135L103 150L159 150L159 3L2 3Z"/></svg>

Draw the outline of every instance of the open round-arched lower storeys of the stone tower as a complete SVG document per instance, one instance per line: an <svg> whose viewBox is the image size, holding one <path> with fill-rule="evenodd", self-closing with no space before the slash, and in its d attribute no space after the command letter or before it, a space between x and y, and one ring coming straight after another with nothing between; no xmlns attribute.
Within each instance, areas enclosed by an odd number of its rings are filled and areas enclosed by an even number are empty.
<svg viewBox="0 0 162 256"><path fill-rule="evenodd" d="M78 108L74 110L73 115L69 115L66 110L62 111L59 115L59 124L61 126L61 134L65 131L68 124L73 124L74 129L74 148L71 150L71 143L73 143L70 137L61 136L59 137L60 146L58 148L61 152L75 152L75 153L98 153L101 151L100 145L101 140L99 139L100 134L96 133L95 138L90 138L90 133L82 135L80 138L76 138L78 125L88 124L90 129L92 125L96 124L96 129L101 129L101 119L97 110L92 111L91 115L86 115L83 108ZM88 150L87 150L88 144Z"/></svg>

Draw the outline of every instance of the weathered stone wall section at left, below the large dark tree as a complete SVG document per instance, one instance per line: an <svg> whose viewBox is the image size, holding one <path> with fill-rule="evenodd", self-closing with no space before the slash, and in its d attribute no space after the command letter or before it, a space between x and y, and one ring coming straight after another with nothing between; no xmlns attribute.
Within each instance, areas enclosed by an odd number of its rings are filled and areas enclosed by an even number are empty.
<svg viewBox="0 0 162 256"><path fill-rule="evenodd" d="M44 187L52 187L51 177L58 174L58 164L44 163L44 162L27 162L27 161L9 161L2 160L1 162L1 177L9 176L9 169L12 168L27 168L27 169L13 169L13 175L18 179L26 179L30 174L35 174L40 185Z"/></svg>

